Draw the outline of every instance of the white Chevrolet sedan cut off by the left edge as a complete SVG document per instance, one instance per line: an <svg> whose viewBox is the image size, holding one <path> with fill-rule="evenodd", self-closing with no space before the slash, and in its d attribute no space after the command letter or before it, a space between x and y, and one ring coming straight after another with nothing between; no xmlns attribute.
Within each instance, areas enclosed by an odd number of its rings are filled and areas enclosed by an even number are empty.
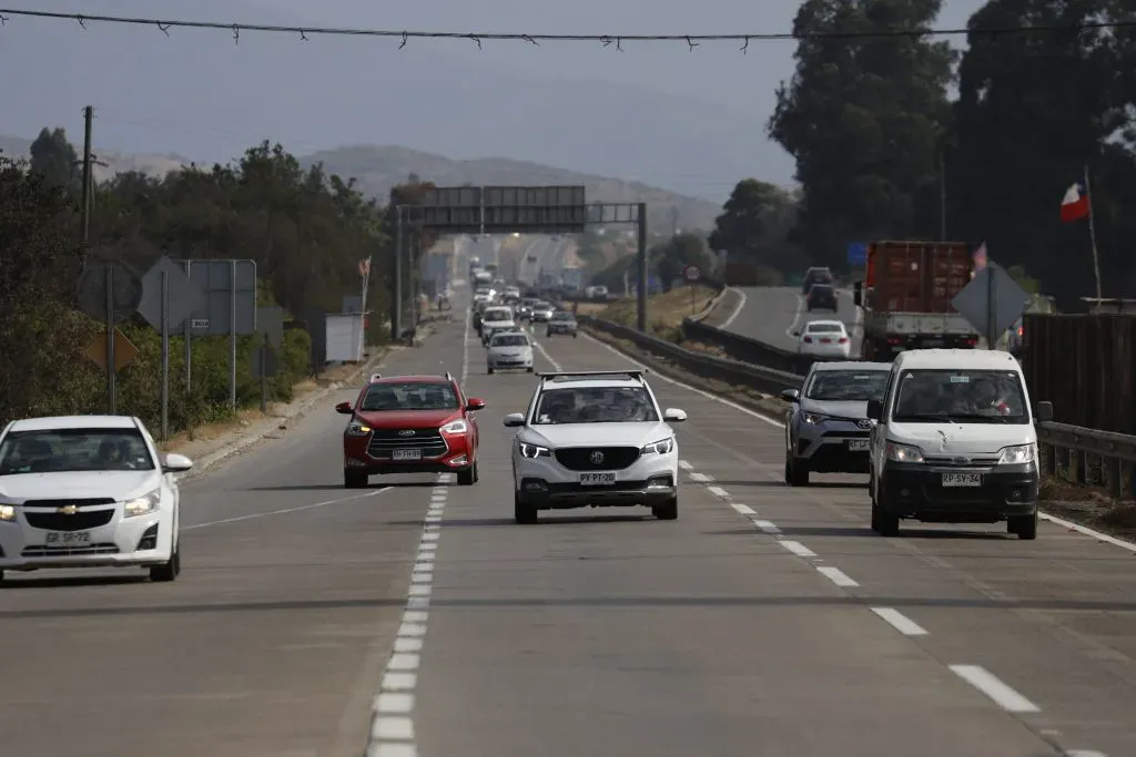
<svg viewBox="0 0 1136 757"><path fill-rule="evenodd" d="M70 415L12 421L0 434L0 578L45 567L181 572L175 474L142 421Z"/></svg>

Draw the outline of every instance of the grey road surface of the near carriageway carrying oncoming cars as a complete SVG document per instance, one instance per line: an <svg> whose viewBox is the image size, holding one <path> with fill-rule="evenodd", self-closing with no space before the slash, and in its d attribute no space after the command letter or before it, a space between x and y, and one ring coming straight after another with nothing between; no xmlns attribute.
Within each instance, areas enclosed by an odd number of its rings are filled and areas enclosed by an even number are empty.
<svg viewBox="0 0 1136 757"><path fill-rule="evenodd" d="M540 370L628 365L537 338ZM176 583L14 580L3 754L1136 754L1133 552L1049 523L876 537L862 478L785 487L782 429L661 378L690 413L679 519L517 525L500 419L534 378L486 376L461 323L382 371L446 369L488 403L473 487L343 490L343 392L185 483Z"/></svg>

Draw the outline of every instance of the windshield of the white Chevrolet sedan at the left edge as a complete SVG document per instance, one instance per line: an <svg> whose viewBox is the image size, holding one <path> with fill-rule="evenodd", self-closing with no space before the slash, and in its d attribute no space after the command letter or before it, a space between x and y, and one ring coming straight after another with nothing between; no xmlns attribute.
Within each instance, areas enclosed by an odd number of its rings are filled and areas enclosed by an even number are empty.
<svg viewBox="0 0 1136 757"><path fill-rule="evenodd" d="M62 471L152 471L137 429L11 431L0 444L0 476Z"/></svg>

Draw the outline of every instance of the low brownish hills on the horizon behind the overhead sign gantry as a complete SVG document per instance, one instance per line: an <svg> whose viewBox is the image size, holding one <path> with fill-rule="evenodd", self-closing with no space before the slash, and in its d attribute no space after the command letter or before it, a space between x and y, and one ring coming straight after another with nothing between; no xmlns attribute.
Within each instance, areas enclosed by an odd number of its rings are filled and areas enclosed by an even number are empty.
<svg viewBox="0 0 1136 757"><path fill-rule="evenodd" d="M31 145L31 140L0 136L0 151L8 158L27 158ZM132 154L98 149L94 152L100 161L107 163L106 167L95 166L94 175L98 180L125 171L165 176L192 162L176 154ZM357 145L316 152L301 157L300 162L303 166L321 162L328 173L344 178L354 177L360 191L384 202L390 196L391 187L406 182L410 174L417 174L423 180L434 182L438 186L583 184L587 187L588 202L646 202L648 225L652 233L669 233L673 222L677 222L682 229L709 230L713 228L713 219L721 212L721 208L708 200L688 197L638 182L577 174L508 158L452 160L406 148Z"/></svg>

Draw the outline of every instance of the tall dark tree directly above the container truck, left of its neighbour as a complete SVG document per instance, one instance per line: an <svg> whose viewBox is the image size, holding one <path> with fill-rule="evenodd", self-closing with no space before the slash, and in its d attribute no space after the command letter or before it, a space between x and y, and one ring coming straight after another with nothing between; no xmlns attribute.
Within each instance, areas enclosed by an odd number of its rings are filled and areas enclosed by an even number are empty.
<svg viewBox="0 0 1136 757"><path fill-rule="evenodd" d="M933 236L946 86L953 53L924 37L833 37L927 27L942 0L805 0L793 79L777 91L769 133L796 159L804 188L797 238L843 267L846 244ZM810 36L812 35L812 36Z"/></svg>

